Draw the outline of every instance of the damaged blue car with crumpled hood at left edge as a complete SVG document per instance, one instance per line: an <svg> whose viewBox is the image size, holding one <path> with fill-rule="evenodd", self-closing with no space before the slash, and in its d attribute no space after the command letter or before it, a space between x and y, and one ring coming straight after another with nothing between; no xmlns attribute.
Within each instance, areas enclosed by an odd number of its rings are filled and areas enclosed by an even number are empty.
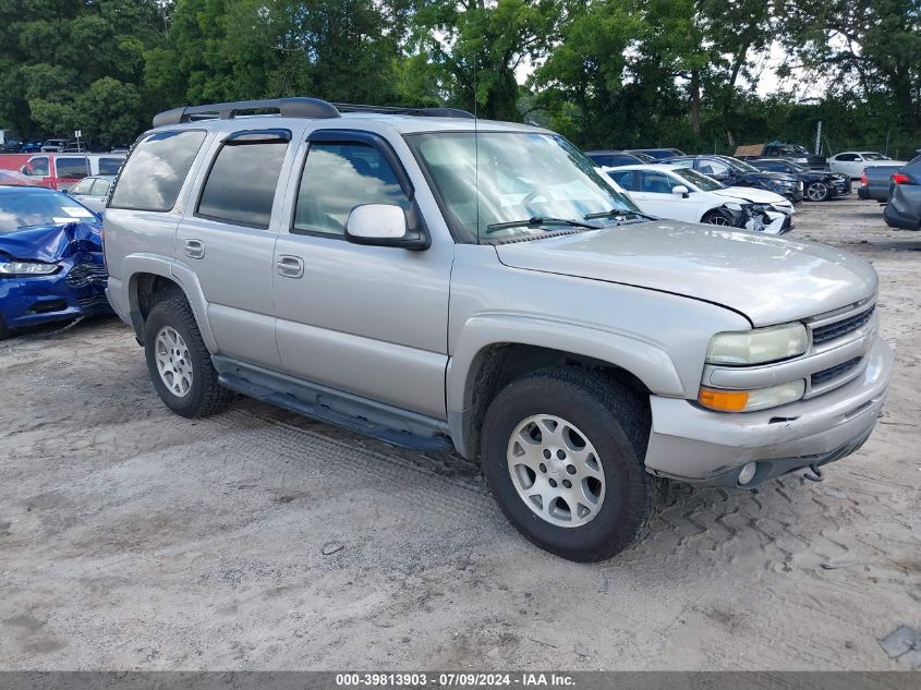
<svg viewBox="0 0 921 690"><path fill-rule="evenodd" d="M0 186L0 338L110 311L99 216L60 192Z"/></svg>

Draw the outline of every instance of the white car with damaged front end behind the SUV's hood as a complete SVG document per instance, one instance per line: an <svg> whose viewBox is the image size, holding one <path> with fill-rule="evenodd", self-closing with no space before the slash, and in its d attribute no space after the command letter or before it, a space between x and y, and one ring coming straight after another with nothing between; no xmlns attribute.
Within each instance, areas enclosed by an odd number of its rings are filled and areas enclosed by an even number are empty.
<svg viewBox="0 0 921 690"><path fill-rule="evenodd" d="M781 234L792 228L789 199L748 186L725 186L690 168L669 165L603 168L644 214L657 218Z"/></svg>

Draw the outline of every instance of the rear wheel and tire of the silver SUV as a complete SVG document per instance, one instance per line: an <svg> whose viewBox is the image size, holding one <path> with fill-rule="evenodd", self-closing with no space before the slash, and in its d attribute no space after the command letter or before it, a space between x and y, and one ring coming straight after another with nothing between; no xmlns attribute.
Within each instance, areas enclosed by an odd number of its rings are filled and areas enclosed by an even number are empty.
<svg viewBox="0 0 921 690"><path fill-rule="evenodd" d="M150 310L144 325L144 354L154 388L181 416L215 414L233 398L218 383L211 355L184 298L170 296Z"/></svg>

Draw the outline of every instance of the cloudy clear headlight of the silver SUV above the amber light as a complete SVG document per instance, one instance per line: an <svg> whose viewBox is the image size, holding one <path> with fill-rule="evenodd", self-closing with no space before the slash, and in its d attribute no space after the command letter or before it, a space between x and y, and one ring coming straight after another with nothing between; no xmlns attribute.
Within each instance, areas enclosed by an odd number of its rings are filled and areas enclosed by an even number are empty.
<svg viewBox="0 0 921 690"><path fill-rule="evenodd" d="M716 334L706 349L708 364L764 364L805 352L809 337L802 324Z"/></svg>

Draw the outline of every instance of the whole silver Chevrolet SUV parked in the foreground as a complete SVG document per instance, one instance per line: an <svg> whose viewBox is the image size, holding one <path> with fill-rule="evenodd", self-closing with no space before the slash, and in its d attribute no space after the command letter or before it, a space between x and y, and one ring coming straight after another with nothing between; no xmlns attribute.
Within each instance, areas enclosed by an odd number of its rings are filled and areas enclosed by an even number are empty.
<svg viewBox="0 0 921 690"><path fill-rule="evenodd" d="M106 210L108 295L179 414L239 391L452 445L574 560L641 535L664 480L817 471L880 415L870 265L643 216L553 132L310 98L154 124Z"/></svg>

